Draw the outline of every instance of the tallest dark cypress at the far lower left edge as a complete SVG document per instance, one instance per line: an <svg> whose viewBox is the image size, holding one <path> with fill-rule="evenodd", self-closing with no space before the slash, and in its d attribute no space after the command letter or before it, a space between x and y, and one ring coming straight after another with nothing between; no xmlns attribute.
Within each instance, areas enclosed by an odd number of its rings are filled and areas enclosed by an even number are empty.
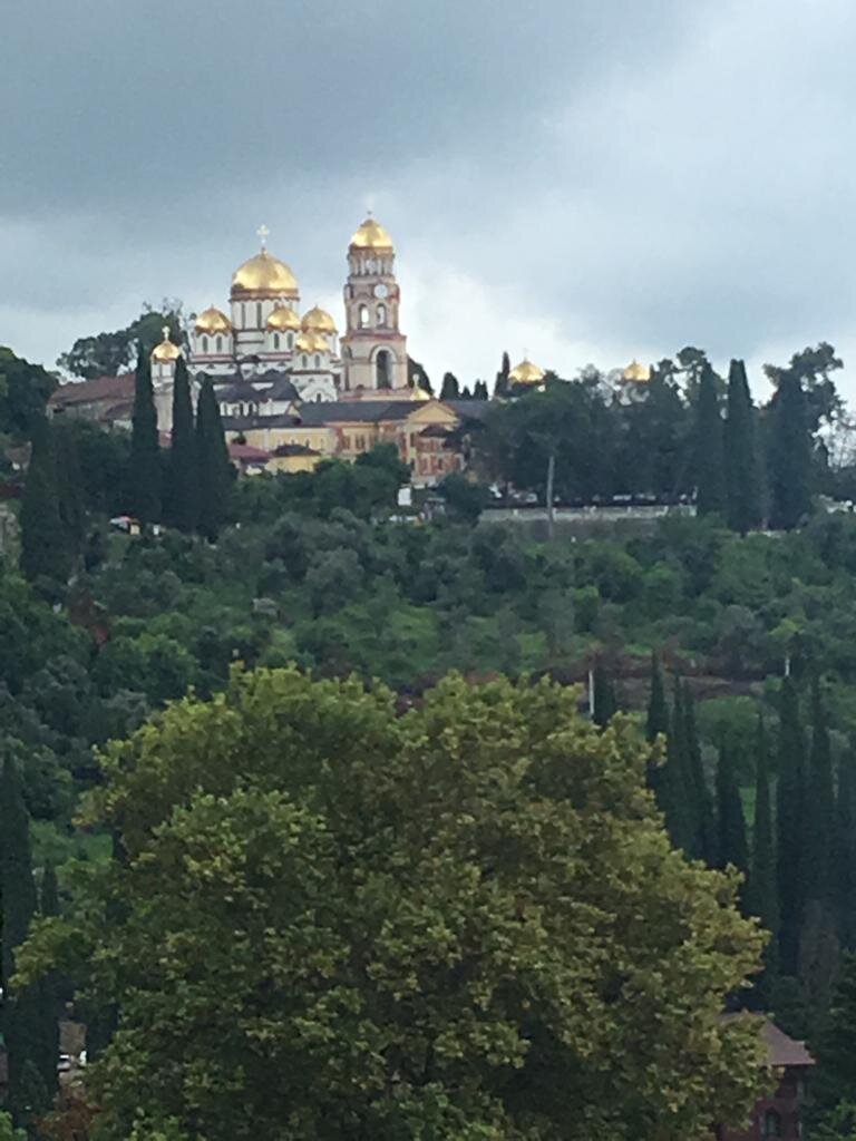
<svg viewBox="0 0 856 1141"><path fill-rule="evenodd" d="M0 772L0 835L3 1033L9 1058L9 1102L17 1119L23 1120L26 1112L43 1110L48 1098L41 1076L45 1035L40 987L18 989L9 985L15 973L15 953L26 939L37 909L30 816L24 804L21 774L9 758Z"/></svg>

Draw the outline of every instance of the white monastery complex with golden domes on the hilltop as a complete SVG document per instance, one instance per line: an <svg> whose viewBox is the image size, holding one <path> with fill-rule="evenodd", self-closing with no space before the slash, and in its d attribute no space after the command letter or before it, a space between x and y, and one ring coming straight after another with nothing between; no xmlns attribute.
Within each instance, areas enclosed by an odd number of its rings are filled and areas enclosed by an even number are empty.
<svg viewBox="0 0 856 1141"><path fill-rule="evenodd" d="M431 485L467 467L471 431L488 404L438 400L419 387L401 329L393 240L369 216L350 238L344 325L317 305L305 309L291 268L267 249L234 272L228 304L210 305L188 330L194 396L209 377L234 461L245 471L312 470L325 458L353 460L375 444L396 444L413 483ZM168 330L151 356L158 426L171 431L176 363L185 355ZM517 391L541 387L544 370L524 358L509 373ZM633 362L624 397L644 389ZM53 414L130 427L134 373L63 385Z"/></svg>

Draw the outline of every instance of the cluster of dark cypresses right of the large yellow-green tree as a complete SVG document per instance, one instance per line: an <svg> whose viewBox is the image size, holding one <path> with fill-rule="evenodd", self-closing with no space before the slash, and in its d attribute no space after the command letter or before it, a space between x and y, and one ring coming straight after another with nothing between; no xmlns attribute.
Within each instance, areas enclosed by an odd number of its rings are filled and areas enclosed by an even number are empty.
<svg viewBox="0 0 856 1141"><path fill-rule="evenodd" d="M667 738L665 761L651 782L673 843L711 867L744 874L742 906L770 932L759 1000L798 995L808 1021L798 1020L797 1029L805 1033L829 1003L841 948L856 947L856 776L848 758L833 770L819 682L811 687L810 734L791 678L782 686L773 754L759 718L751 843L732 751L719 750L711 795L692 695L676 680L669 707L656 658L647 731L652 741Z"/></svg>

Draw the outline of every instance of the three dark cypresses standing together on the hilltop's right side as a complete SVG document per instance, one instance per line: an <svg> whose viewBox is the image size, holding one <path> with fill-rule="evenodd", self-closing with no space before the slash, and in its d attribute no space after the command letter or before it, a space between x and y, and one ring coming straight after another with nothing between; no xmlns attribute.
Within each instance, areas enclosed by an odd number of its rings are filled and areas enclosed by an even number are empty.
<svg viewBox="0 0 856 1141"><path fill-rule="evenodd" d="M705 365L695 404L697 510L722 516L743 535L761 524L765 499L776 529L798 526L810 505L811 437L805 391L792 372L782 374L770 402L766 450L759 427L743 362L732 361L728 370L725 418L717 379Z"/></svg>

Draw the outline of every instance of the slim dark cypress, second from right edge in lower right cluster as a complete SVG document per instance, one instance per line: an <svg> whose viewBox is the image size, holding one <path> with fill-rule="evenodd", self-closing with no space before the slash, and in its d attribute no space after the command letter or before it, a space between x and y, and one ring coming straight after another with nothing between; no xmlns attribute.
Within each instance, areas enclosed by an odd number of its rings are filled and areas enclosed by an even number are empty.
<svg viewBox="0 0 856 1141"><path fill-rule="evenodd" d="M821 686L811 686L811 752L808 764L806 863L802 880L807 900L830 905L833 897L832 867L835 827L835 795L832 756Z"/></svg>

